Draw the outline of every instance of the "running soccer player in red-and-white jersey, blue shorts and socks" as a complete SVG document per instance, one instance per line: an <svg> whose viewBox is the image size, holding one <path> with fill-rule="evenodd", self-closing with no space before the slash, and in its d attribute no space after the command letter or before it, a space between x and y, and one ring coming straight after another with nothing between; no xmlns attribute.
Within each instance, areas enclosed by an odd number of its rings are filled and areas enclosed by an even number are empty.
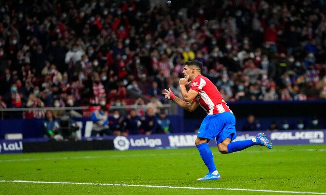
<svg viewBox="0 0 326 195"><path fill-rule="evenodd" d="M184 78L179 81L182 97L185 101L176 97L171 89L165 89L163 95L166 99L171 99L183 109L190 112L200 105L207 113L202 121L195 144L199 154L208 168L209 173L197 180L220 179L217 168L213 160L213 154L208 146L211 139L216 138L218 151L222 154L229 154L246 149L253 145L266 146L272 149L272 143L263 133L259 133L253 139L234 141L235 116L226 102L218 92L216 86L208 78L200 74L202 63L193 60L185 63L183 74ZM189 91L186 86L191 83Z"/></svg>

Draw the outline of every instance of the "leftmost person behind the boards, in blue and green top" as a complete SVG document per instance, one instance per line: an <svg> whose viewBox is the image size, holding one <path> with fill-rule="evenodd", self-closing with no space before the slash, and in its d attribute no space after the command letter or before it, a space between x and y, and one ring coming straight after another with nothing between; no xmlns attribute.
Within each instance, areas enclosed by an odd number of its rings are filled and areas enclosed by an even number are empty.
<svg viewBox="0 0 326 195"><path fill-rule="evenodd" d="M44 137L48 137L54 140L63 140L63 137L60 133L60 125L58 120L54 119L53 113L51 110L45 112L45 119L42 122L42 131Z"/></svg>

